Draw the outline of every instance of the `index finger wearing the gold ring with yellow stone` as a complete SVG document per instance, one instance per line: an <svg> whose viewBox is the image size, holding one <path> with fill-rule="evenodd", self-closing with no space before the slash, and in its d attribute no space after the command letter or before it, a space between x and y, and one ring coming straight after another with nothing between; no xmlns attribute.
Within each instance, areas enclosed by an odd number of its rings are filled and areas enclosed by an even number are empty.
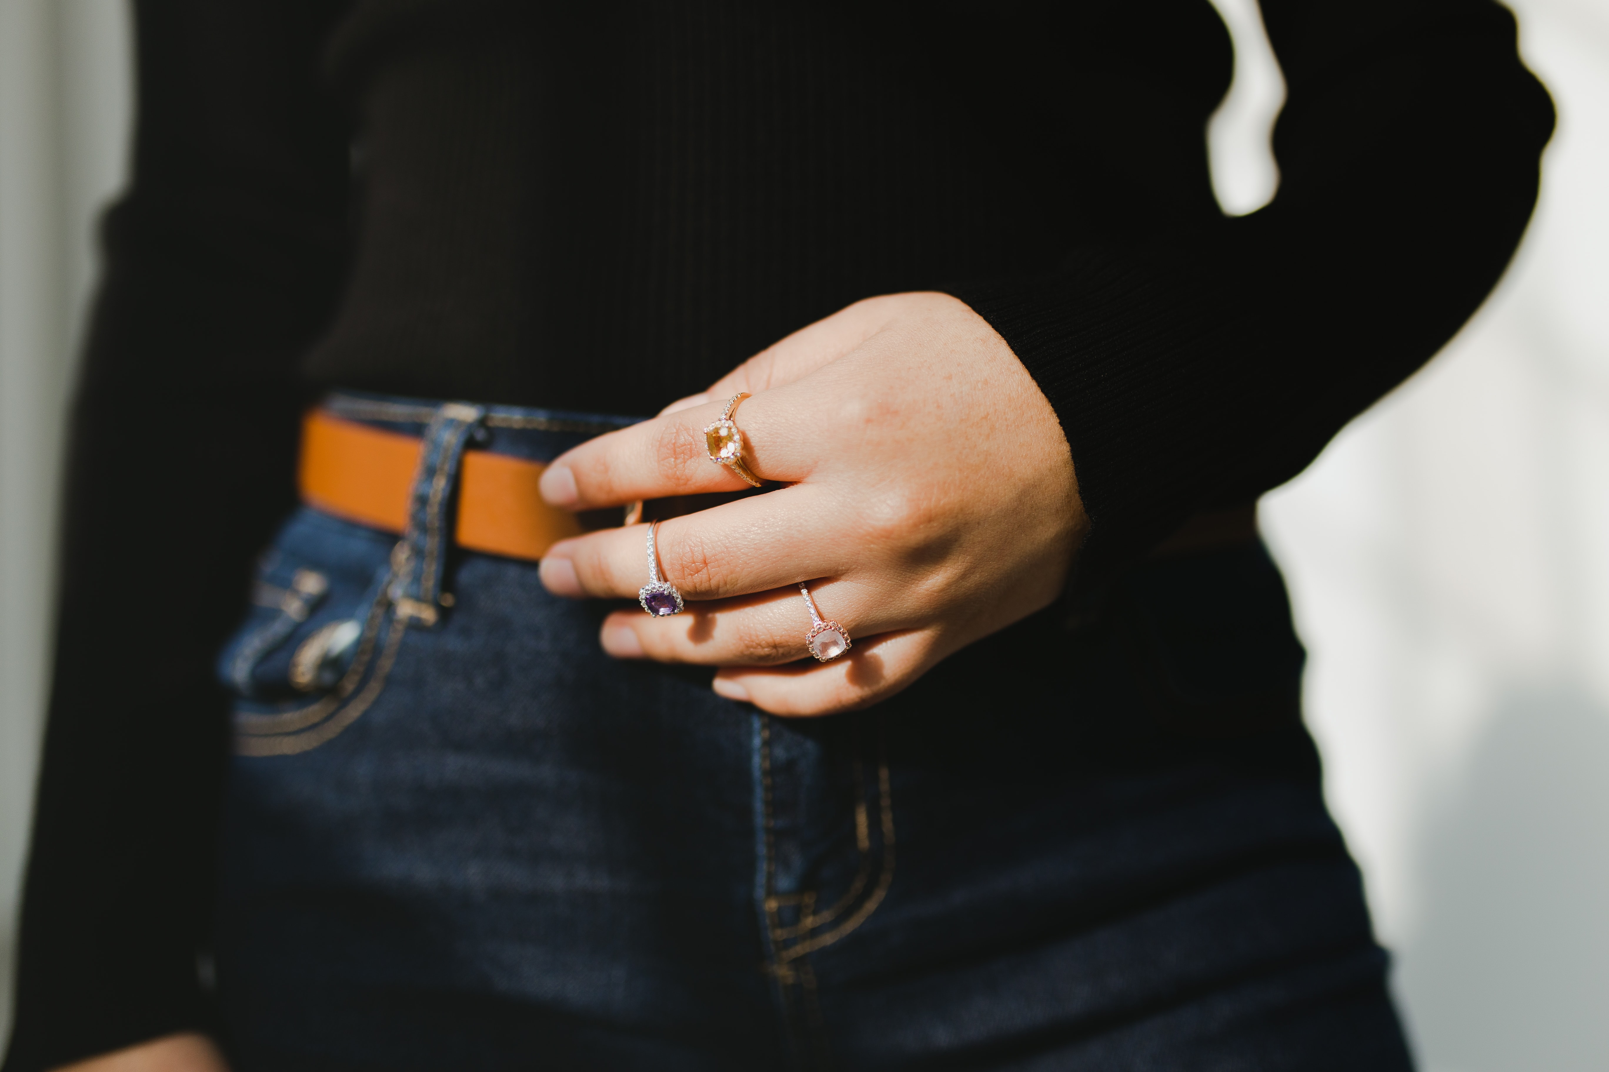
<svg viewBox="0 0 1609 1072"><path fill-rule="evenodd" d="M811 468L813 437L796 411L796 392L777 395L745 399L737 410L743 461L766 479L800 481ZM565 509L599 509L639 498L747 489L743 477L710 458L705 439L705 428L721 418L726 403L692 405L565 452L542 474L542 498Z"/></svg>

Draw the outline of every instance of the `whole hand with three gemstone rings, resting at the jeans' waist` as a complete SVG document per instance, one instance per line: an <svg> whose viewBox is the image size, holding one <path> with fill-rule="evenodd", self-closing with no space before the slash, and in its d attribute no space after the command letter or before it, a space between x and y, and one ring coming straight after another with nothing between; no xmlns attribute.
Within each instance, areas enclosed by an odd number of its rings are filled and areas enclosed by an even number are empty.
<svg viewBox="0 0 1609 1072"><path fill-rule="evenodd" d="M660 524L687 612L611 614L605 651L721 667L714 691L777 715L864 707L1047 606L1088 519L1056 411L1006 341L946 294L874 297L782 339L706 394L555 460L542 495L595 509L745 487L703 428L739 391L750 468L782 487ZM645 526L553 545L562 596L636 598ZM804 657L809 611L854 638ZM787 665L784 665L787 664Z"/></svg>

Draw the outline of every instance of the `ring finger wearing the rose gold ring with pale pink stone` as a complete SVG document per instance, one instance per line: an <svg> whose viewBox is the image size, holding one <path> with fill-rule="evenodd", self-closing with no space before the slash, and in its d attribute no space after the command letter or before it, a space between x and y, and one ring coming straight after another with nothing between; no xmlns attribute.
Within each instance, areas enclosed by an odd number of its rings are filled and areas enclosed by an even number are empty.
<svg viewBox="0 0 1609 1072"><path fill-rule="evenodd" d="M883 585L846 580L813 583L824 619L851 638L874 636L912 624L896 611ZM616 659L653 659L695 665L776 665L811 656L809 606L798 588L779 588L719 603L700 603L673 617L640 611L611 614L600 630L603 651ZM850 651L854 651L851 648Z"/></svg>

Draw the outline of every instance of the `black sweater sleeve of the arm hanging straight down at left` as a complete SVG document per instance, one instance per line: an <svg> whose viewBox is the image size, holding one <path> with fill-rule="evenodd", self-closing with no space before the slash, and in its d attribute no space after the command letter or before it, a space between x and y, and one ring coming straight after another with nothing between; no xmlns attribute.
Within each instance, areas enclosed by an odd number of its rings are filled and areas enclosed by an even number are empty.
<svg viewBox="0 0 1609 1072"><path fill-rule="evenodd" d="M132 182L71 418L56 656L5 1072L208 1030L212 657L294 503L296 363L346 246L333 5L137 6Z"/></svg>

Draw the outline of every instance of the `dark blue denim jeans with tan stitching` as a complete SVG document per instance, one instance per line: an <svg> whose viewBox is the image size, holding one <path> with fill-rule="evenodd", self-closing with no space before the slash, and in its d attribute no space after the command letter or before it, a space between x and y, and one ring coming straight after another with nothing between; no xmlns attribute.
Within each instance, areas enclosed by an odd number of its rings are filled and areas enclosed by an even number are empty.
<svg viewBox="0 0 1609 1072"><path fill-rule="evenodd" d="M330 405L425 461L402 540L290 518L219 662L241 1072L1408 1067L1260 546L774 718L447 540L463 450L629 421Z"/></svg>

